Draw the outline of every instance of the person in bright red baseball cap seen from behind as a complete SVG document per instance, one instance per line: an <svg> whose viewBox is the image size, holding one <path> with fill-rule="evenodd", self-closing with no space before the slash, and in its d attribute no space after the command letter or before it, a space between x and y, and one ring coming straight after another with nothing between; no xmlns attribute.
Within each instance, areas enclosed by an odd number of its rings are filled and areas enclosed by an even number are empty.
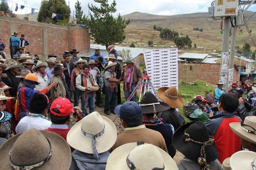
<svg viewBox="0 0 256 170"><path fill-rule="evenodd" d="M75 111L74 111L75 110ZM77 121L82 119L82 110L79 107L72 106L72 103L67 98L57 98L52 102L50 108L51 126L45 131L51 131L59 134L67 140L67 133L70 131L71 113L76 115Z"/></svg>

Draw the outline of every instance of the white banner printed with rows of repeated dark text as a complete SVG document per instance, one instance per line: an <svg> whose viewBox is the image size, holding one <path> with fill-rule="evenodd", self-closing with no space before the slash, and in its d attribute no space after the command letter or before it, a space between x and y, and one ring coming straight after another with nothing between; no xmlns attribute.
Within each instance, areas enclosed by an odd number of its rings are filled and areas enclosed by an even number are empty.
<svg viewBox="0 0 256 170"><path fill-rule="evenodd" d="M152 85L178 89L178 48L146 49L144 60Z"/></svg>

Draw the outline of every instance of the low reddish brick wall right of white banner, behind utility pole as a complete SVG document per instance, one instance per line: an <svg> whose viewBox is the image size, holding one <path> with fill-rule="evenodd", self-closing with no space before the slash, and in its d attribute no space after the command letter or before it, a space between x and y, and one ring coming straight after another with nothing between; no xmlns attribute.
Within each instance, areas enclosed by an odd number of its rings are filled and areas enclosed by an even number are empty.
<svg viewBox="0 0 256 170"><path fill-rule="evenodd" d="M190 66L192 70L190 69ZM216 84L219 81L220 64L179 63L179 81L191 82L196 79ZM191 75L193 78L191 79ZM234 81L239 81L239 72L234 69Z"/></svg>

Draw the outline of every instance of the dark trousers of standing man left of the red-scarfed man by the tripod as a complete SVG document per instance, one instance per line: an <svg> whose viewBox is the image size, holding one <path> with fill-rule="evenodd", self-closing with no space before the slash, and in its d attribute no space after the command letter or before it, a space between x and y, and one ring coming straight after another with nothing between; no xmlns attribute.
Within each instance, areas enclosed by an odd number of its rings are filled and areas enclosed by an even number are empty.
<svg viewBox="0 0 256 170"><path fill-rule="evenodd" d="M116 92L110 92L109 87L105 87L105 108L104 112L114 113L116 107Z"/></svg>

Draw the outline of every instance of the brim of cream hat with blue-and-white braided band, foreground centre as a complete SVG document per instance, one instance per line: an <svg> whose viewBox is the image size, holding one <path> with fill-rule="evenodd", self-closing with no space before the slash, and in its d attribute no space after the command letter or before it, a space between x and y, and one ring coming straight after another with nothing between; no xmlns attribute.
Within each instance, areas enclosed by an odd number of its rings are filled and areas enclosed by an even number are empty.
<svg viewBox="0 0 256 170"><path fill-rule="evenodd" d="M116 126L107 117L101 116L105 123L105 132L97 137L96 149L98 153L109 151L114 146L117 138ZM86 137L81 132L82 121L77 122L67 134L67 143L78 151L92 154L92 138Z"/></svg>

